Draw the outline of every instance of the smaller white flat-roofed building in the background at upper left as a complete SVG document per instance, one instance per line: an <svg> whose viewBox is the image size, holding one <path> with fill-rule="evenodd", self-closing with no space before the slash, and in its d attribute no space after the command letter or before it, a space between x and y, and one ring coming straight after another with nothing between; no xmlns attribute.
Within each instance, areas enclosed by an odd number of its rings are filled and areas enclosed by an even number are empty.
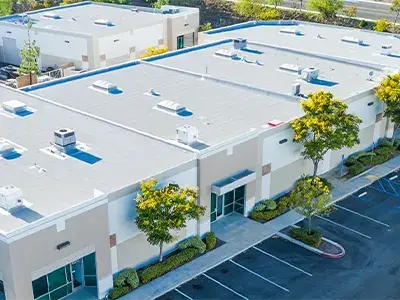
<svg viewBox="0 0 400 300"><path fill-rule="evenodd" d="M73 64L92 70L137 59L151 46L170 50L197 43L199 10L161 9L81 2L0 18L0 62L19 65L28 39L40 47L39 66Z"/></svg>

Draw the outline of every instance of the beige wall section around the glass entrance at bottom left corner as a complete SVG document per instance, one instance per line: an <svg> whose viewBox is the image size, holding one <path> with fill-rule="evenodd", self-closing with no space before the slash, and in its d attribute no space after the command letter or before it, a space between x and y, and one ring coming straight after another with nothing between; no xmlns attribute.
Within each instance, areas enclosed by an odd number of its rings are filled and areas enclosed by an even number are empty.
<svg viewBox="0 0 400 300"><path fill-rule="evenodd" d="M107 205L104 204L66 220L65 229L60 232L54 225L12 242L9 245L12 282L5 282L7 300L33 299L32 280L78 259L75 254L82 249L96 251L98 280L109 276L111 259L107 218ZM56 246L65 241L69 241L70 246L58 250ZM10 269L5 272L11 273Z"/></svg>

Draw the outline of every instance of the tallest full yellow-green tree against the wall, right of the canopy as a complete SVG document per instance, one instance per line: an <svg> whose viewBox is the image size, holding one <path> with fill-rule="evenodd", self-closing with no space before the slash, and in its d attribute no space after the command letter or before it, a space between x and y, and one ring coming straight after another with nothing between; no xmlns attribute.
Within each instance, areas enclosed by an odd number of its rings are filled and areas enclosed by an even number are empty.
<svg viewBox="0 0 400 300"><path fill-rule="evenodd" d="M301 106L304 116L291 122L294 142L304 146L302 155L313 162L315 178L326 152L360 143L358 132L362 121L347 113L345 102L323 91L310 94L301 101Z"/></svg>

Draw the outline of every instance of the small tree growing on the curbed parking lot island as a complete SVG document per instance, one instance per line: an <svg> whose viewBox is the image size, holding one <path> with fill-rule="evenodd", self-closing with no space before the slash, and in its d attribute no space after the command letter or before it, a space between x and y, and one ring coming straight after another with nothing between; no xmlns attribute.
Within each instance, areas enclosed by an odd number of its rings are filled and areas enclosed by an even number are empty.
<svg viewBox="0 0 400 300"><path fill-rule="evenodd" d="M286 199L308 220L308 234L311 234L313 216L328 215L333 210L333 207L329 206L331 200L329 188L319 177L314 180L312 178L299 180Z"/></svg>

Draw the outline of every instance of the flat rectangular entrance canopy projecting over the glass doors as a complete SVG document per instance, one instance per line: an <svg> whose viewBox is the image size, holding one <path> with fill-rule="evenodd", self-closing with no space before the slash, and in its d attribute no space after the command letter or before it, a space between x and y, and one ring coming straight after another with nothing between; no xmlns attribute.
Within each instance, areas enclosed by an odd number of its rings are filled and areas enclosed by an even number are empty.
<svg viewBox="0 0 400 300"><path fill-rule="evenodd" d="M256 179L254 171L245 169L232 176L214 182L211 186L211 192L218 196L226 194L234 189L248 184Z"/></svg>

